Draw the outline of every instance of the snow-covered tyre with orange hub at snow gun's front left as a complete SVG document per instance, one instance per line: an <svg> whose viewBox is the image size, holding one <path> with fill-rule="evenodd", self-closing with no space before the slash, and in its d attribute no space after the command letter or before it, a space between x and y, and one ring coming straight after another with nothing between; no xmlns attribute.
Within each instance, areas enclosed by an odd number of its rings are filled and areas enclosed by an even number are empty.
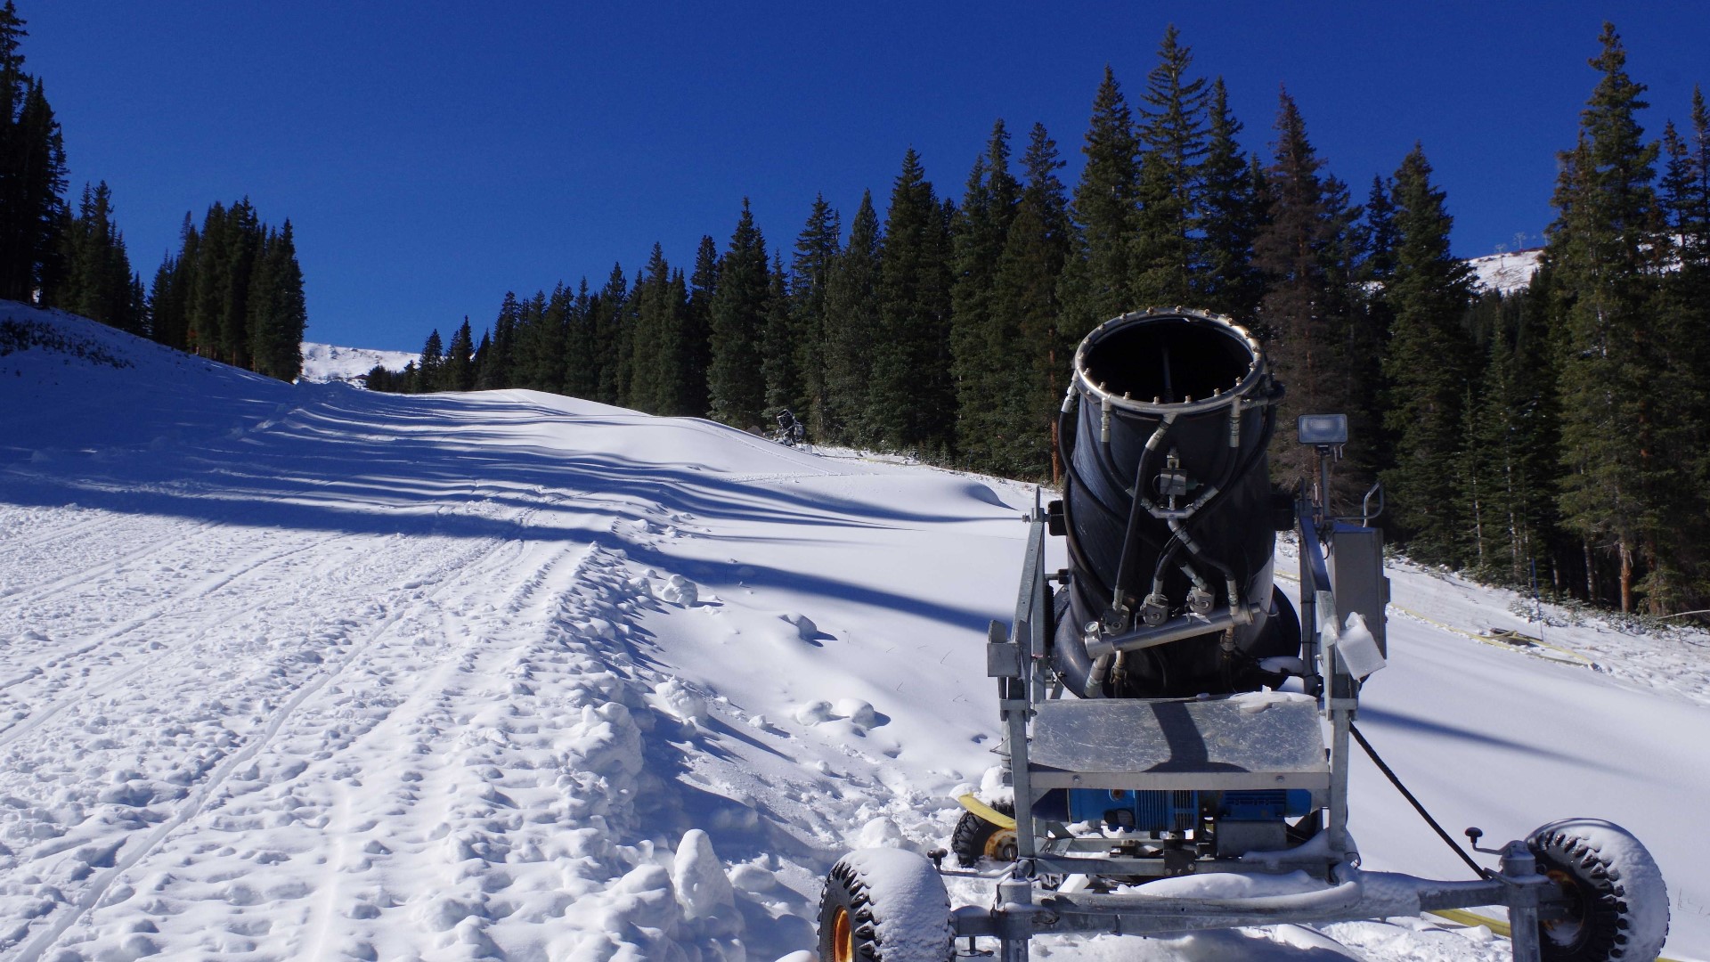
<svg viewBox="0 0 1710 962"><path fill-rule="evenodd" d="M946 962L952 952L951 897L923 856L864 849L826 873L821 962Z"/></svg>

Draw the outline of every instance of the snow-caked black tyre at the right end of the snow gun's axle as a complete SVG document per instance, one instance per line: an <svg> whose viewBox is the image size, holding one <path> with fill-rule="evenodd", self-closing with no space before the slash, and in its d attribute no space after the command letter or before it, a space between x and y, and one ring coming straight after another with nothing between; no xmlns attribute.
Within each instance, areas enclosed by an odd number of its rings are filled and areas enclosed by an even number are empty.
<svg viewBox="0 0 1710 962"><path fill-rule="evenodd" d="M1650 962L1669 936L1669 892L1657 863L1619 825L1551 822L1527 847L1568 897L1568 917L1539 923L1546 962Z"/></svg>

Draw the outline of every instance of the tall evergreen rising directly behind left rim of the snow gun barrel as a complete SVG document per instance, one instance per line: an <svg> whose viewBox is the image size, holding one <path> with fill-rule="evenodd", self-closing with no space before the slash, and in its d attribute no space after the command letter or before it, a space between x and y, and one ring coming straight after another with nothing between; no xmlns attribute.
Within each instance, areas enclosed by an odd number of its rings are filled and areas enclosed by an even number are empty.
<svg viewBox="0 0 1710 962"><path fill-rule="evenodd" d="M1076 339L1137 306L1130 289L1130 231L1139 197L1139 140L1134 135L1134 115L1110 65L1093 98L1093 122L1081 152L1086 154L1086 168L1081 169L1070 207L1076 252L1060 293L1060 327Z"/></svg>

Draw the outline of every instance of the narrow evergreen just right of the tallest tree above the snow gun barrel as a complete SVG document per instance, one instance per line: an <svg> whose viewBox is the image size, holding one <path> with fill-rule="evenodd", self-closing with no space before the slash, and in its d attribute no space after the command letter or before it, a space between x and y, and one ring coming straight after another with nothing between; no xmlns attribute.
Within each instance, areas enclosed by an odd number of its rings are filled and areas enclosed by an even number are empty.
<svg viewBox="0 0 1710 962"><path fill-rule="evenodd" d="M1253 236L1262 205L1253 164L1241 154L1236 135L1241 122L1229 113L1223 77L1211 86L1206 159L1200 180L1200 258L1188 277L1190 300L1209 310L1250 324L1264 293L1264 277L1253 267Z"/></svg>

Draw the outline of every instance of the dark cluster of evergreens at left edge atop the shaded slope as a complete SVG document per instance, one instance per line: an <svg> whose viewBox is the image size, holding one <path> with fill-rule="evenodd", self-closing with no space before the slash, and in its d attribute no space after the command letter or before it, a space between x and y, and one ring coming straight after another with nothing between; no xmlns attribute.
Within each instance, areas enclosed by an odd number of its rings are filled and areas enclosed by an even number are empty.
<svg viewBox="0 0 1710 962"><path fill-rule="evenodd" d="M214 204L144 289L115 223L113 192L84 185L65 200L60 123L24 70L26 22L0 7L0 298L60 308L161 344L294 380L308 325L291 221L279 229L250 202Z"/></svg>

